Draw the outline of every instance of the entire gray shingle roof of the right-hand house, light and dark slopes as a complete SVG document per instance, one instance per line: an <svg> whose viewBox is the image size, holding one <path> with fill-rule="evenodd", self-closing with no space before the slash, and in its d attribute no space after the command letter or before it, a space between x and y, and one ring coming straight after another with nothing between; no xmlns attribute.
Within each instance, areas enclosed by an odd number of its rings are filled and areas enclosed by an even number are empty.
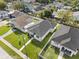
<svg viewBox="0 0 79 59"><path fill-rule="evenodd" d="M67 39L70 41L61 44L63 40ZM76 51L79 49L79 29L62 25L61 29L55 33L53 41Z"/></svg>

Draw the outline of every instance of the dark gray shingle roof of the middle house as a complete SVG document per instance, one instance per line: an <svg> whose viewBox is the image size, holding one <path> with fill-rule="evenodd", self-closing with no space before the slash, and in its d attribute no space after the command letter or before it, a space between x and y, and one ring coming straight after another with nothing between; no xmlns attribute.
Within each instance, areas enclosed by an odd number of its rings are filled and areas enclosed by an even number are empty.
<svg viewBox="0 0 79 59"><path fill-rule="evenodd" d="M55 25L51 25L51 23L48 20L44 20L39 24L28 28L28 30L32 33L35 33L40 38L42 38L48 32L48 30L54 27Z"/></svg>

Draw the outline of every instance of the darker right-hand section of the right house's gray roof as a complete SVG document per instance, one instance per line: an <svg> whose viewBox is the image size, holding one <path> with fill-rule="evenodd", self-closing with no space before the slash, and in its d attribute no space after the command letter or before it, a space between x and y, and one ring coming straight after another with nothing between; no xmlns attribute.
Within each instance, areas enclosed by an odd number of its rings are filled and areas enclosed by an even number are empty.
<svg viewBox="0 0 79 59"><path fill-rule="evenodd" d="M72 50L79 49L79 29L71 28L69 31L71 41L64 44L66 47L71 48Z"/></svg>

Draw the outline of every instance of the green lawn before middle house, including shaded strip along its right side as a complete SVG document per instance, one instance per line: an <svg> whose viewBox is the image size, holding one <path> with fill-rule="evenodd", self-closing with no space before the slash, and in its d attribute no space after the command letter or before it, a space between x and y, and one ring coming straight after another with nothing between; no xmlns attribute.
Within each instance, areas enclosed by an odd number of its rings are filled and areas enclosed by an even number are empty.
<svg viewBox="0 0 79 59"><path fill-rule="evenodd" d="M33 40L29 45L27 45L23 49L23 53L26 54L31 59L38 59L38 54L41 51L41 49L44 47L44 45L47 43L48 39L50 38L52 34L49 33L46 38L42 42L38 42L36 40Z"/></svg>

